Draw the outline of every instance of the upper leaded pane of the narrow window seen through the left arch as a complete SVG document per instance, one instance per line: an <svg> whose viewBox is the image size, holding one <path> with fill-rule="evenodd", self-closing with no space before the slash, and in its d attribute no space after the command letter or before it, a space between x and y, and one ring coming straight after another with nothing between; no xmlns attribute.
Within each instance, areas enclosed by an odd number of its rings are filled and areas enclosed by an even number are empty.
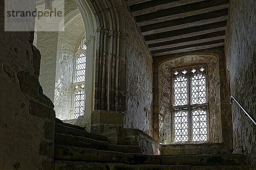
<svg viewBox="0 0 256 170"><path fill-rule="evenodd" d="M85 81L85 65L86 65L86 56L85 54L80 54L76 59L76 82Z"/></svg>

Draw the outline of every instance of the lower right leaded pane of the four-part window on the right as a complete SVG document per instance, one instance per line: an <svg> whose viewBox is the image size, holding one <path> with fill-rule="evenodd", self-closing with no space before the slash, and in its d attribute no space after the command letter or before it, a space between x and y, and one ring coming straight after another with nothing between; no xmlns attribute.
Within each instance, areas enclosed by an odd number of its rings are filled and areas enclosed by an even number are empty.
<svg viewBox="0 0 256 170"><path fill-rule="evenodd" d="M192 111L193 141L207 141L207 111Z"/></svg>

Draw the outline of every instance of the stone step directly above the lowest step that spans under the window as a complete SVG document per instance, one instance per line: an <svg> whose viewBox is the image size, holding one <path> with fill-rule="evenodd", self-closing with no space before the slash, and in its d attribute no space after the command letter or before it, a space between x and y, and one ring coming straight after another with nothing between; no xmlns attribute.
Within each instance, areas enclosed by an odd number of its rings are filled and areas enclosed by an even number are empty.
<svg viewBox="0 0 256 170"><path fill-rule="evenodd" d="M97 150L109 150L122 153L141 153L141 148L137 146L109 144L108 142L60 133L55 133L54 144Z"/></svg>

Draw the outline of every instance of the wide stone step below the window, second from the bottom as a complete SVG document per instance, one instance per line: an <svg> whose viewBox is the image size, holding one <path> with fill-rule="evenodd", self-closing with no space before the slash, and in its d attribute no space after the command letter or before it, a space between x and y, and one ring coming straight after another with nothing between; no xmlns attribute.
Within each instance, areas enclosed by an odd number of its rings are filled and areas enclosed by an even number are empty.
<svg viewBox="0 0 256 170"><path fill-rule="evenodd" d="M136 153L120 153L61 145L55 145L54 158L55 160L120 164L193 166L247 165L247 157L241 154L151 156Z"/></svg>

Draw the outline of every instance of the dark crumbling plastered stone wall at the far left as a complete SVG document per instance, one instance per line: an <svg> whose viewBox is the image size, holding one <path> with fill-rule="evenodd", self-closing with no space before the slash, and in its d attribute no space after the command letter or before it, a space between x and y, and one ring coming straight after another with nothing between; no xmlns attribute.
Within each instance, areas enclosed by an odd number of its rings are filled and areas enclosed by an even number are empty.
<svg viewBox="0 0 256 170"><path fill-rule="evenodd" d="M35 1L19 2L20 8L28 4L35 8ZM33 32L4 31L3 3L0 1L0 169L51 170L55 112L39 85L41 56L32 45ZM26 24L33 30L34 22Z"/></svg>

